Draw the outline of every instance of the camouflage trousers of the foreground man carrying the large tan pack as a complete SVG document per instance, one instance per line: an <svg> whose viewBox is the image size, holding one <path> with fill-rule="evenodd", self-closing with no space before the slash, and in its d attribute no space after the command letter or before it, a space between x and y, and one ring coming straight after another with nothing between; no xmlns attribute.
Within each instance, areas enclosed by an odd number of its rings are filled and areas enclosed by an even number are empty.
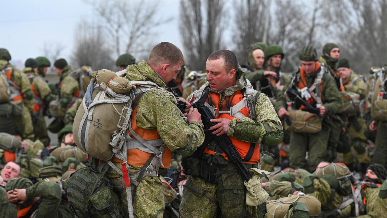
<svg viewBox="0 0 387 218"><path fill-rule="evenodd" d="M120 170L122 170L121 163L114 163ZM128 166L128 174L137 173L142 166ZM108 179L119 178L121 175L110 168L106 172ZM134 185L130 185L130 189L133 189ZM128 214L128 201L126 189L122 191L114 190L120 199L120 206L123 209L126 217ZM144 176L140 181L136 194L134 196L133 211L135 218L163 218L164 213L164 195L163 184L158 176Z"/></svg>

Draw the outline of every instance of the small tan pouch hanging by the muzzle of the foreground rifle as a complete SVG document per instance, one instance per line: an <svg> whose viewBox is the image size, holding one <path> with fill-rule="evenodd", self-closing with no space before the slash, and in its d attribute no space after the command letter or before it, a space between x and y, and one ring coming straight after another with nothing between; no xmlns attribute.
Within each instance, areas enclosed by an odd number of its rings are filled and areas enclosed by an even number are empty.
<svg viewBox="0 0 387 218"><path fill-rule="evenodd" d="M264 170L263 170L264 171ZM259 174L262 175L261 170L257 168L251 168L249 172L253 175L248 182L244 182L246 192L246 204L248 206L258 206L269 199L269 194L262 188ZM264 171L266 175L270 175L270 172Z"/></svg>

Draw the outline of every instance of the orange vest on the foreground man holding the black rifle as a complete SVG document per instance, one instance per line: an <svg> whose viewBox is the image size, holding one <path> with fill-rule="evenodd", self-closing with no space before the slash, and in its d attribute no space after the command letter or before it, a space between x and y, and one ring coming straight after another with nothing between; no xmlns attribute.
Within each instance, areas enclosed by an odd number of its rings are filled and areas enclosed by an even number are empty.
<svg viewBox="0 0 387 218"><path fill-rule="evenodd" d="M209 99L211 99L211 102L209 102ZM214 92L210 92L207 99L205 100L205 102L207 102L208 104L212 105L213 107L219 109L219 111L228 111L229 108L226 105L227 103L229 104L229 107L233 107L234 105L238 104L238 102L240 102L242 99L243 99L243 94L241 93L240 90L238 90L238 91L234 92L231 96L226 97L226 99L223 100L222 104L219 105L220 95L217 93L214 93ZM239 112L241 112L246 117L249 117L247 105L243 109L241 109ZM217 119L225 118L225 119L232 120L236 117L230 116L229 113L222 113L222 114L219 114L218 116L216 116L216 118ZM234 137L231 137L231 136L228 136L228 137L230 138L231 142L235 146L236 150L238 151L238 153L240 154L242 159L244 159L247 156L247 153L248 153L250 147L253 147L254 150L253 150L253 155L252 155L251 159L249 161L243 161L243 163L248 163L248 164L257 164L258 163L258 161L259 161L259 145L258 145L258 143L254 144L254 143L250 143L250 142L243 142L243 141L236 139ZM206 147L204 149L204 153L216 154L216 152L209 150L208 147ZM226 154L224 152L223 152L222 156L226 160L229 161L229 158L226 156Z"/></svg>

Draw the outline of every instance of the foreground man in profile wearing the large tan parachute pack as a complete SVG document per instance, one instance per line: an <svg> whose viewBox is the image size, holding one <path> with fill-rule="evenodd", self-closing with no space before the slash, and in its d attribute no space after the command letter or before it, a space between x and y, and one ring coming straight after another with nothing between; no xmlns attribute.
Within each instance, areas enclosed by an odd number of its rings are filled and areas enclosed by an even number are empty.
<svg viewBox="0 0 387 218"><path fill-rule="evenodd" d="M136 141L141 137L154 146L166 145L163 146L165 151L162 153L162 159L153 159L154 154L142 151L144 149L128 149L128 175L137 183L131 182L130 185L135 217L163 217L164 197L162 183L158 177L159 169L151 167L150 161L159 160L159 164L154 164L169 168L171 151L188 156L204 141L199 112L190 109L186 123L176 107L175 97L165 90L166 83L176 78L183 62L183 54L179 48L162 42L152 49L147 62L141 61L137 65L127 67L126 78L129 81L151 81L159 86L158 89L148 90L142 96L136 97L135 101L138 103L132 106L134 111L129 127L132 130L128 130L130 137ZM122 160L113 157L112 162L122 171ZM163 170L160 169L161 171ZM106 175L112 184L123 178L113 168L108 170ZM120 196L122 207L128 208L126 189L119 190L115 187L115 192Z"/></svg>

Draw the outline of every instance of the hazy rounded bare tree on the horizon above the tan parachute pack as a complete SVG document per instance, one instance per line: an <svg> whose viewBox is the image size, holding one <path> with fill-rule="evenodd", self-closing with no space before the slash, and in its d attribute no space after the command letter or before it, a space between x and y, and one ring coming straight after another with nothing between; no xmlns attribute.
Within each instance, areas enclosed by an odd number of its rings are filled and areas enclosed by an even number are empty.
<svg viewBox="0 0 387 218"><path fill-rule="evenodd" d="M75 48L72 55L73 67L83 65L92 69L114 69L115 61L112 59L113 50L106 43L101 29L92 31L87 22L80 22L75 31Z"/></svg>

